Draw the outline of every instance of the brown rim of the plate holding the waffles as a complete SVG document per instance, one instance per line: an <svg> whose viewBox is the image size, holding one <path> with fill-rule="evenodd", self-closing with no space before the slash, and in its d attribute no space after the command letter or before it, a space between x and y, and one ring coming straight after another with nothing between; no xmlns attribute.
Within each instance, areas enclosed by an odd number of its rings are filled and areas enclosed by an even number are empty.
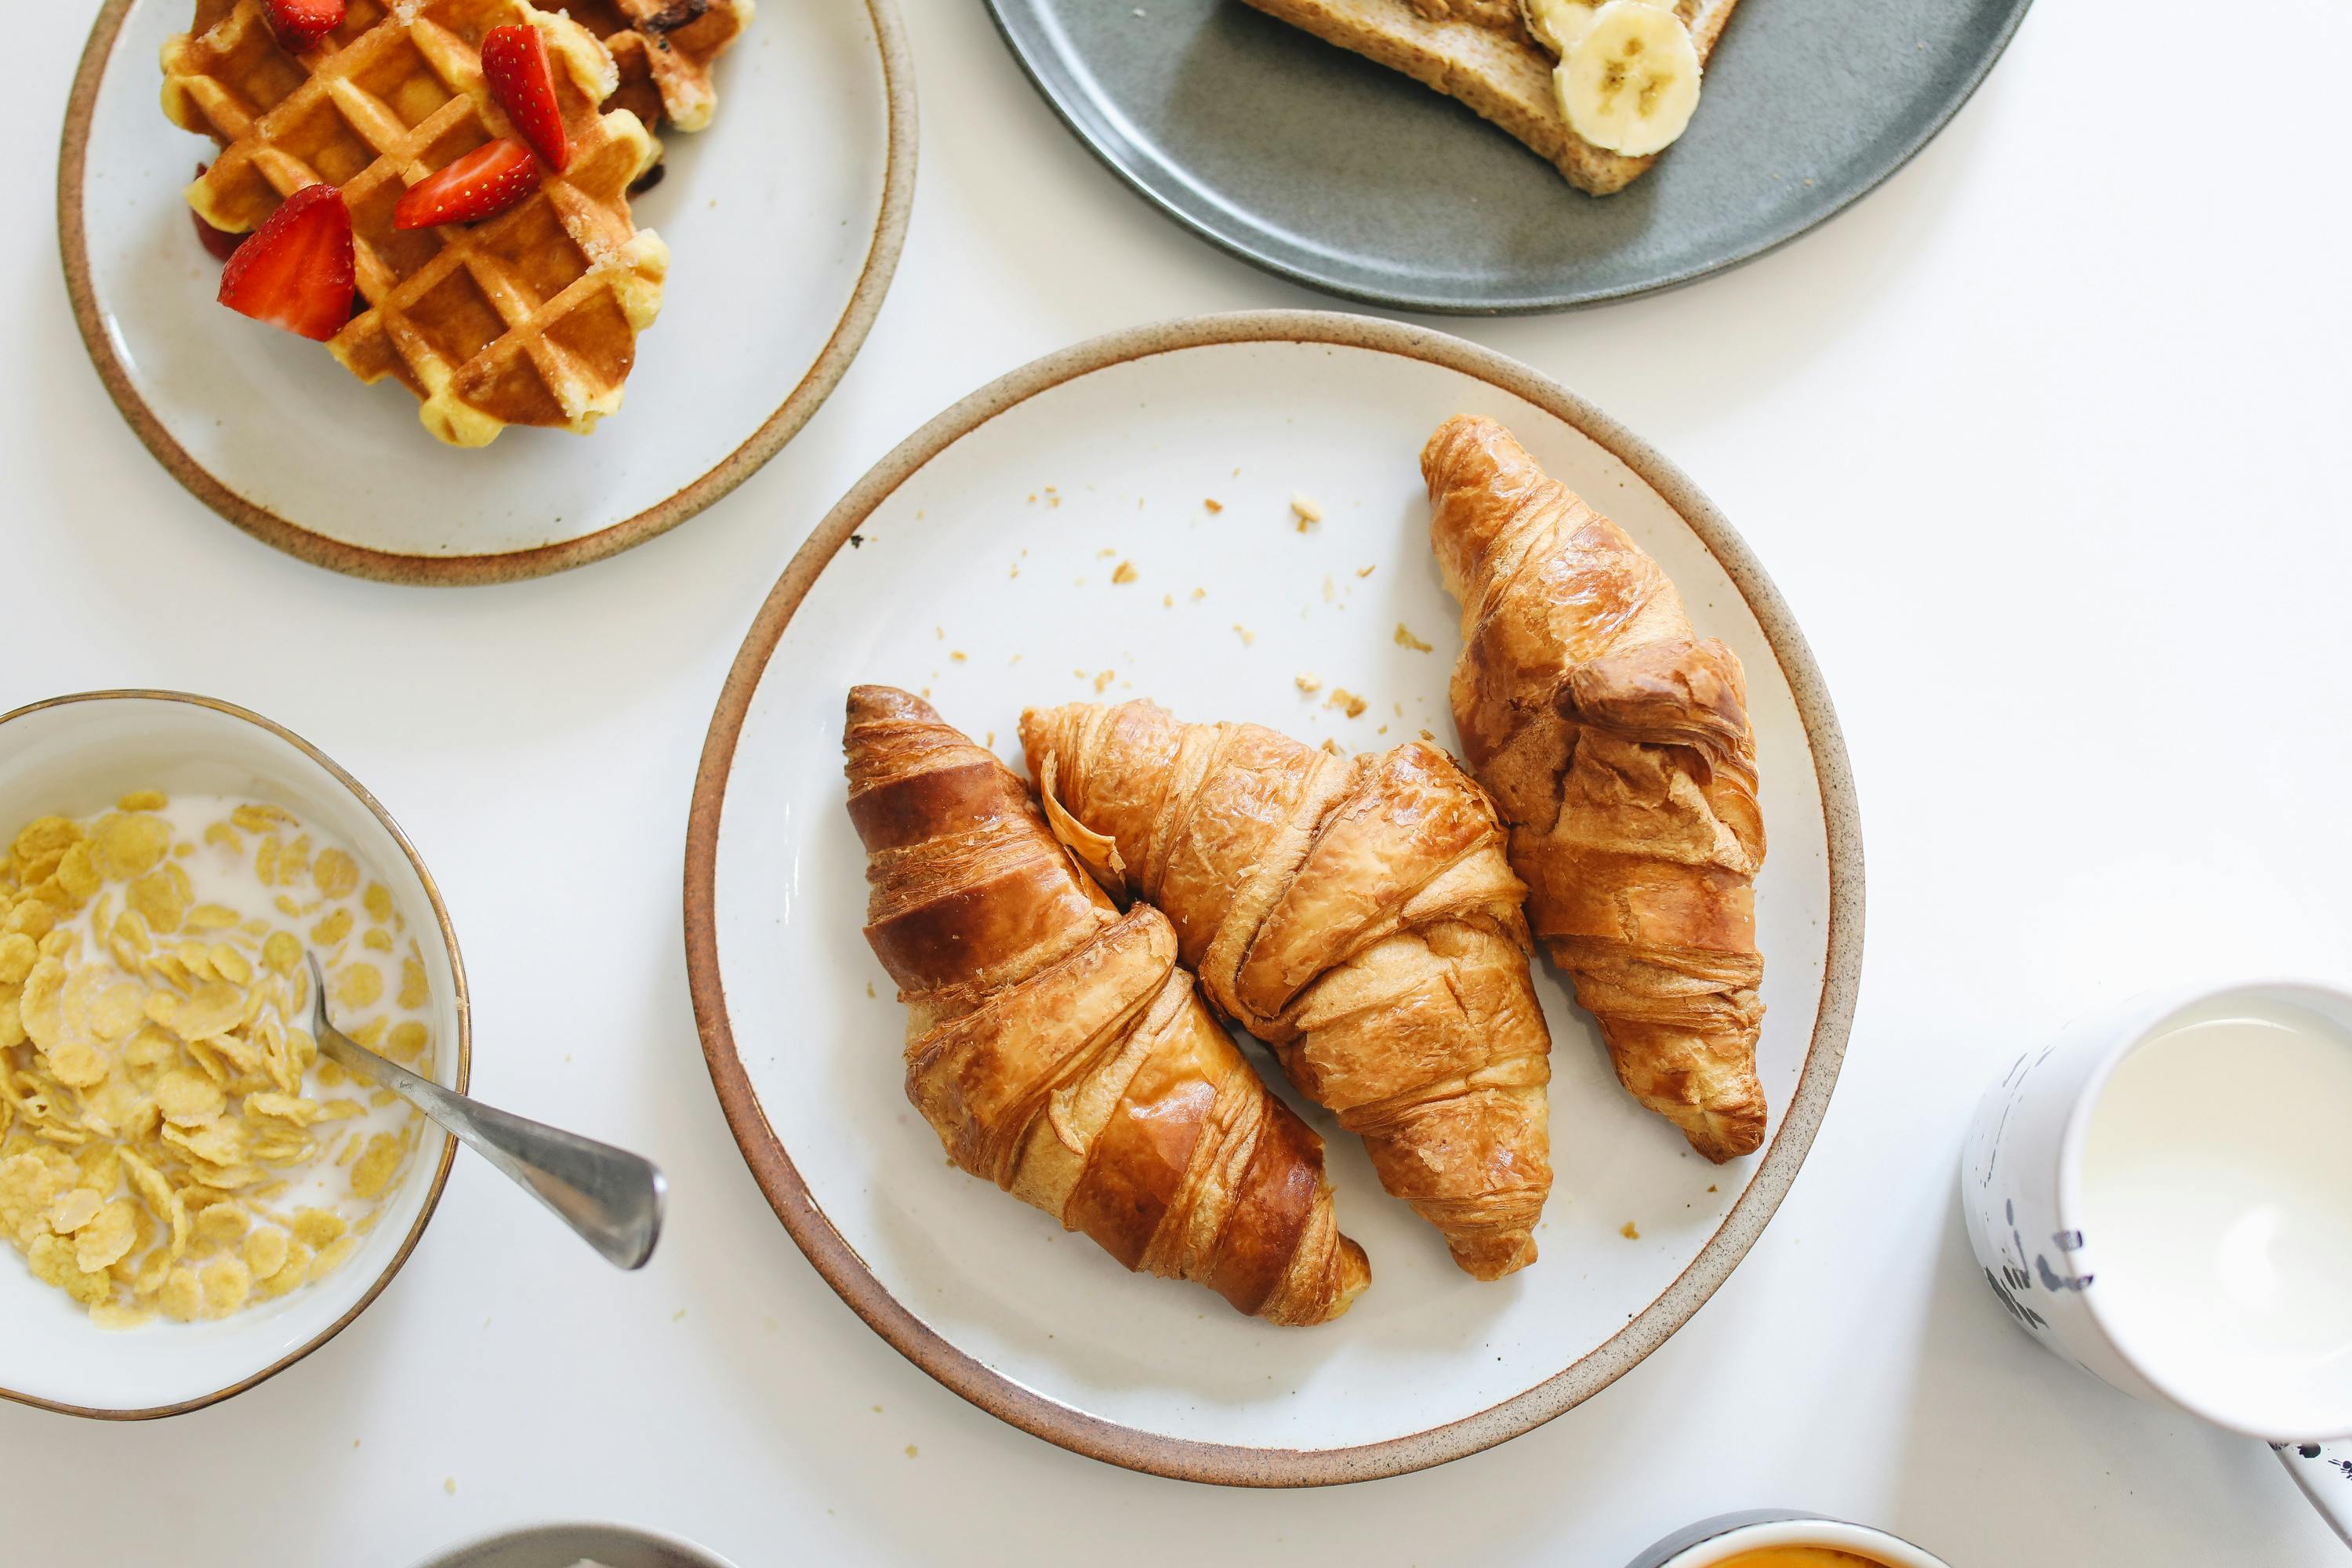
<svg viewBox="0 0 2352 1568"><path fill-rule="evenodd" d="M113 63L115 38L122 33L122 21L129 16L132 5L134 0L106 0L99 9L99 19L89 28L89 42L82 45L82 63L73 73L73 94L66 99L66 132L56 153L56 247L66 263L66 294L73 299L73 322L82 331L82 346L89 350L89 362L96 367L99 381L106 383L106 395L115 400L125 423L155 454L165 473L179 480L191 496L261 543L306 559L313 567L379 583L466 588L569 571L572 567L619 555L630 545L642 545L656 534L668 534L760 473L762 463L800 435L800 428L823 407L849 369L849 362L856 360L858 348L866 343L866 331L882 310L882 296L889 294L891 275L898 270L898 252L906 247L906 221L915 207L915 59L908 52L898 0L866 0L882 54L882 94L889 108L882 209L875 216L873 244L866 249L866 268L849 292L849 306L833 327L833 336L826 339L823 350L818 350L816 362L809 364L809 374L800 378L800 386L790 390L741 447L720 458L699 480L635 517L623 517L595 534L529 550L506 550L499 555L402 555L315 534L292 517L280 517L266 505L247 501L198 463L165 430L162 418L148 407L146 397L139 395L129 367L122 364L122 355L99 320L96 289L89 282L87 230L82 223L82 169L89 155L89 113L99 101L99 82L106 78L106 66Z"/></svg>

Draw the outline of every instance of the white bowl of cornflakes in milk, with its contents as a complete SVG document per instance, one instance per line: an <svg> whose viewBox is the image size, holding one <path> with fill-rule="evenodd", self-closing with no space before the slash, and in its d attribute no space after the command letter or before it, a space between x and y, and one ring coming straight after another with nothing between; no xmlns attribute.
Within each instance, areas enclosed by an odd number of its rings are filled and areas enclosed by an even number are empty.
<svg viewBox="0 0 2352 1568"><path fill-rule="evenodd" d="M195 827L212 802L235 802L235 820L223 804ZM313 1065L308 1037L278 1025L303 999L289 959L332 947L336 1023L381 1001L379 1037L393 1030L421 1072L466 1088L466 971L433 877L313 745L176 691L0 715L0 865L16 900L54 900L28 919L0 896L0 1041L14 1034L0 1046L0 1396L141 1420L240 1394L383 1291L449 1178L454 1138ZM247 865L282 924L216 893ZM26 938L45 973L14 973ZM282 1093L266 1093L273 1072ZM122 1246L111 1220L136 1222L136 1239Z"/></svg>

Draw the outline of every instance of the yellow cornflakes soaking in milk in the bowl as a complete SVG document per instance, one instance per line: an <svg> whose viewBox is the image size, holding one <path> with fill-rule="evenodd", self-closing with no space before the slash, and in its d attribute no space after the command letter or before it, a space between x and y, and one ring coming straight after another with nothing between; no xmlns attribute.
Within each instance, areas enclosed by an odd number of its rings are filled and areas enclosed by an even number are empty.
<svg viewBox="0 0 2352 1568"><path fill-rule="evenodd" d="M103 1328L223 1316L332 1272L416 1147L393 1095L318 1093L350 1079L299 1025L299 931L386 954L334 966L336 1006L372 1013L355 1039L419 1063L433 1046L379 1009L397 990L421 1011L430 985L414 943L393 978L393 893L350 851L242 804L188 830L207 856L174 842L167 806L134 790L87 823L28 823L0 856L0 1239ZM212 875L252 893L200 896ZM287 889L275 910L299 924L240 910L270 898L254 882ZM348 1173L346 1199L280 1208L322 1168Z"/></svg>

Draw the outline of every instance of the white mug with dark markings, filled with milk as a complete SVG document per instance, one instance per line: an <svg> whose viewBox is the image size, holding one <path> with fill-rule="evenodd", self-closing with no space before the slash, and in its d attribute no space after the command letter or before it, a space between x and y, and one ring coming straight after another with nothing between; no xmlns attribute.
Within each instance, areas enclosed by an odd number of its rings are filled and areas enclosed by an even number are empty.
<svg viewBox="0 0 2352 1568"><path fill-rule="evenodd" d="M2018 1056L1976 1110L1959 1185L2020 1328L2126 1394L2265 1439L2352 1544L2347 1128L2352 994L2178 990Z"/></svg>

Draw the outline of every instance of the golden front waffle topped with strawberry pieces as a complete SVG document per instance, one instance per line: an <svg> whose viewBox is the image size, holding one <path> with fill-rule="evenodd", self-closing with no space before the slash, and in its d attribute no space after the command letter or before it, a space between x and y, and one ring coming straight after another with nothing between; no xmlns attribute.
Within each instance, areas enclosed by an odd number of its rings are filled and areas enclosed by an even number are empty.
<svg viewBox="0 0 2352 1568"><path fill-rule="evenodd" d="M487 223L395 230L402 190L513 132L480 59L513 21L548 38L572 167ZM365 310L329 348L360 381L397 376L456 447L506 425L586 435L621 407L670 259L630 221L628 186L661 148L637 115L600 113L616 73L583 28L524 0L353 0L287 54L261 0L198 0L162 61L165 113L221 143L188 186L207 223L247 230L303 186L343 188Z"/></svg>

